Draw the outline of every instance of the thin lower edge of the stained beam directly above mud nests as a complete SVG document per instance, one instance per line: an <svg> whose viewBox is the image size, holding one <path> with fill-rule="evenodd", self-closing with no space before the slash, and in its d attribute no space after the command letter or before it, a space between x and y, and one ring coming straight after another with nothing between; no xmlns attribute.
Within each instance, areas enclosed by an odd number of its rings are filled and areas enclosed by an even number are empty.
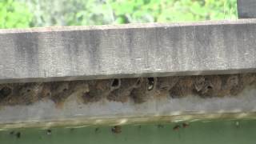
<svg viewBox="0 0 256 144"><path fill-rule="evenodd" d="M47 78L5 78L0 79L3 83L25 83L25 82L61 82L61 81L79 81L79 80L96 80L111 78L150 78L150 77L171 77L171 76L191 76L191 75L218 75L218 74L246 74L256 73L256 68L238 69L238 70L203 70L203 71L178 71L178 72L152 72L144 74L106 74L106 75L78 75L63 77L47 77Z"/></svg>

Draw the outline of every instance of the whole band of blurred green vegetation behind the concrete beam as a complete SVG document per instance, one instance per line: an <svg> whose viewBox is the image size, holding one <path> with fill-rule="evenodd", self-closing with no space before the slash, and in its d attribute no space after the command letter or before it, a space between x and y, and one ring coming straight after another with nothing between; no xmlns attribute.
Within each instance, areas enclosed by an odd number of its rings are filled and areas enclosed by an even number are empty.
<svg viewBox="0 0 256 144"><path fill-rule="evenodd" d="M236 0L0 0L0 28L237 18Z"/></svg>

